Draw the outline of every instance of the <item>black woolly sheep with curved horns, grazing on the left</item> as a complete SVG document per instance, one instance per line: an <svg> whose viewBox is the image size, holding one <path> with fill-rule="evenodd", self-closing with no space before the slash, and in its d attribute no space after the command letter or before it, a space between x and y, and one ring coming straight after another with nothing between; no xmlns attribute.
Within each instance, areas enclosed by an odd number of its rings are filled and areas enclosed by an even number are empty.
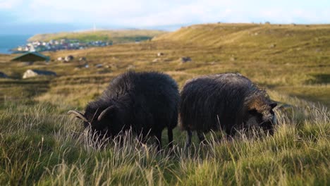
<svg viewBox="0 0 330 186"><path fill-rule="evenodd" d="M85 127L105 137L130 130L145 139L155 135L161 149L161 131L168 130L172 147L173 128L178 122L180 95L169 76L157 72L129 71L114 78L102 96L87 104L85 113L69 111L84 120Z"/></svg>

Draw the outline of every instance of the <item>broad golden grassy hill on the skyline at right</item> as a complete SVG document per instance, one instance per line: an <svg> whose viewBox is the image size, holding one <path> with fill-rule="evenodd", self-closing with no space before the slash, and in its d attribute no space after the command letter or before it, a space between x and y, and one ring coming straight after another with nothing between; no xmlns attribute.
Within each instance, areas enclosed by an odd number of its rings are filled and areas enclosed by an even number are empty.
<svg viewBox="0 0 330 186"><path fill-rule="evenodd" d="M203 24L182 27L176 32L155 37L202 46L269 47L312 44L330 40L330 25Z"/></svg>

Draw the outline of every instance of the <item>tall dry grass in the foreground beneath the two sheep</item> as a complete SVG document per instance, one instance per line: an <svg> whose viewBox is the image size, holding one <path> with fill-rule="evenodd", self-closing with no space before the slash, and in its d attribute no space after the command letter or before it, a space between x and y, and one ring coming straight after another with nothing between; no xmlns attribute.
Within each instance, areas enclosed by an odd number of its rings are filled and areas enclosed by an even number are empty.
<svg viewBox="0 0 330 186"><path fill-rule="evenodd" d="M16 106L16 108L15 108ZM18 106L19 107L19 106ZM328 185L330 114L325 107L276 111L273 136L219 132L207 144L157 151L126 132L120 139L91 140L80 121L56 106L16 104L0 114L1 185ZM61 108L60 108L61 109ZM175 132L180 134L179 131ZM164 137L163 140L166 140Z"/></svg>

